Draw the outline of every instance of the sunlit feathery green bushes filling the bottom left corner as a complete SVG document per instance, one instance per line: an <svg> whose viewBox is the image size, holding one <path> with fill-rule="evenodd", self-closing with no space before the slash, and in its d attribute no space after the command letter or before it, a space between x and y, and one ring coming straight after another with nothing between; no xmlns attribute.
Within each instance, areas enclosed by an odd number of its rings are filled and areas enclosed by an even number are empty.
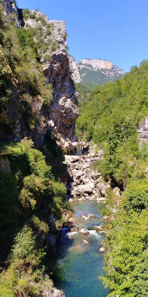
<svg viewBox="0 0 148 297"><path fill-rule="evenodd" d="M45 224L45 223L44 223ZM46 233L48 229L41 228ZM1 273L1 297L37 297L44 287L50 288L52 282L41 269L42 249L37 249L33 230L25 225L15 238L9 258L8 269Z"/></svg>

